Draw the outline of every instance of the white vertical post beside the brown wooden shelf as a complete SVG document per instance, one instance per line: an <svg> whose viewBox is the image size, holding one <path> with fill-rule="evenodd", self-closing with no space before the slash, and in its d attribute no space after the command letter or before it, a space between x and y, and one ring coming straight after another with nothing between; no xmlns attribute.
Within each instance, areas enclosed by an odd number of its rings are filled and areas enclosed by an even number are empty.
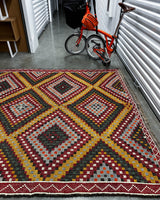
<svg viewBox="0 0 160 200"><path fill-rule="evenodd" d="M22 2L22 8L24 12L24 20L26 24L30 51L31 53L35 53L37 47L39 46L39 42L38 42L38 36L36 33L32 0L21 0L21 2Z"/></svg>

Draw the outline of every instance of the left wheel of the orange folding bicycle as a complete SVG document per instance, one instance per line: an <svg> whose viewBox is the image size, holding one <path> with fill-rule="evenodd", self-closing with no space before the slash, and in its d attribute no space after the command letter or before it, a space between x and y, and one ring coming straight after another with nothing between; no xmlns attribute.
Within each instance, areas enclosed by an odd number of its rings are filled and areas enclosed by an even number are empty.
<svg viewBox="0 0 160 200"><path fill-rule="evenodd" d="M77 55L84 51L86 47L86 37L82 35L81 41L77 44L80 34L75 33L70 35L65 41L65 49L68 53Z"/></svg>

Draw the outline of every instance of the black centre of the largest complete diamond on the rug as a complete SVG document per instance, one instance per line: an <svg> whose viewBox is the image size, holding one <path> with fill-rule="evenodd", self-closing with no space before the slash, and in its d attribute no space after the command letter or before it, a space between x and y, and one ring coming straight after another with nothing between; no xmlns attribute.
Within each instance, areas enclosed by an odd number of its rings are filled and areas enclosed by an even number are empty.
<svg viewBox="0 0 160 200"><path fill-rule="evenodd" d="M51 152L69 137L57 125L49 128L47 131L38 136L38 140Z"/></svg>

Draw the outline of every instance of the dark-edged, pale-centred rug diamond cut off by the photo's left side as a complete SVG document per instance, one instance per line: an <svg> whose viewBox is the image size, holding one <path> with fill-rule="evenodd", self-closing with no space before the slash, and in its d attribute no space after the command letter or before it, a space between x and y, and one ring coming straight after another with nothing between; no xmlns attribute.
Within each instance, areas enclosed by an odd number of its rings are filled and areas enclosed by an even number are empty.
<svg viewBox="0 0 160 200"><path fill-rule="evenodd" d="M0 105L0 120L6 134L10 134L49 108L43 99L29 90Z"/></svg>

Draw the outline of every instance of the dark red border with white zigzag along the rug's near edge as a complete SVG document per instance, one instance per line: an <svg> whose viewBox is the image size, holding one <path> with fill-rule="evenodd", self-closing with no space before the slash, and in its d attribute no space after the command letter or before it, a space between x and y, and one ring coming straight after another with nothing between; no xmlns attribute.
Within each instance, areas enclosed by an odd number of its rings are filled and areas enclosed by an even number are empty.
<svg viewBox="0 0 160 200"><path fill-rule="evenodd" d="M7 185L7 186L6 186ZM50 183L50 182L12 182L0 183L0 194L23 195L23 194L138 194L160 196L160 184L140 183Z"/></svg>

